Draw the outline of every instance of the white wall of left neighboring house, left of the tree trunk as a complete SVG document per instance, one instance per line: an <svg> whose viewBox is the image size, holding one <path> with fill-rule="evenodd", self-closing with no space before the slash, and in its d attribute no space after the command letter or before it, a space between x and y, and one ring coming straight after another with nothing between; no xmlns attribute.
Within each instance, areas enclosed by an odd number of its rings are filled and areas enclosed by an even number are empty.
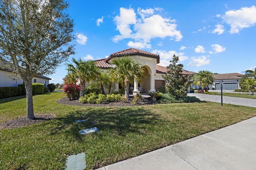
<svg viewBox="0 0 256 170"><path fill-rule="evenodd" d="M16 74L13 72L0 70L0 87L14 87L18 86L18 84L23 84L22 79L10 79L8 76L16 77Z"/></svg>

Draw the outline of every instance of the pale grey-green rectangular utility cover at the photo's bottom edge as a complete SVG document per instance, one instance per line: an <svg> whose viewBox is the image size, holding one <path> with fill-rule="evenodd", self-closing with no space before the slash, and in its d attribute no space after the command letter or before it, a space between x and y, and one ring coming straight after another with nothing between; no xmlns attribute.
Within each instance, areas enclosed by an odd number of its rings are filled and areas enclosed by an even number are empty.
<svg viewBox="0 0 256 170"><path fill-rule="evenodd" d="M85 168L85 153L68 156L65 170L84 170Z"/></svg>

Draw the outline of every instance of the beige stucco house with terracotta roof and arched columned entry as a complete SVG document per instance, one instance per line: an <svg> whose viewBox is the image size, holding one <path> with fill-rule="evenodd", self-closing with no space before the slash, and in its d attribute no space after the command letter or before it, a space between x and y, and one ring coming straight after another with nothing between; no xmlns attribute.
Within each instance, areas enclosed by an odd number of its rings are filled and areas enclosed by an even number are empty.
<svg viewBox="0 0 256 170"><path fill-rule="evenodd" d="M166 83L168 83L167 80L164 80L162 78L162 75L166 74L166 67L159 66L160 57L157 54L150 53L147 51L142 51L140 49L126 49L123 51L119 51L116 53L111 54L108 58L106 59L100 59L96 60L96 65L100 67L100 70L106 70L109 68L113 68L114 65L111 64L111 61L114 58L118 57L133 57L136 59L138 63L140 63L142 66L141 68L145 69L145 77L142 83L138 83L136 80L132 82L133 84L133 89L132 92L133 94L138 94L138 93L150 93L152 91L158 90L159 87L164 86ZM182 72L184 75L191 75L194 74L194 72L189 72L186 70L183 70ZM114 89L118 90L119 89L119 83L115 83ZM188 88L189 92L189 88Z"/></svg>

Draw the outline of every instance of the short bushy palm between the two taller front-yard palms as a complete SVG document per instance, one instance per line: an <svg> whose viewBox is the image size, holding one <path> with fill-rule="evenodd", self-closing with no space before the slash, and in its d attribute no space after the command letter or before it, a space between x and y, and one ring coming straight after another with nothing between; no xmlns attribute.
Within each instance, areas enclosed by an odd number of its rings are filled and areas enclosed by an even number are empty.
<svg viewBox="0 0 256 170"><path fill-rule="evenodd" d="M110 94L112 87L113 79L110 76L110 73L104 71L100 73L100 76L90 84L92 87L99 87L103 94ZM106 92L106 93L105 93Z"/></svg>

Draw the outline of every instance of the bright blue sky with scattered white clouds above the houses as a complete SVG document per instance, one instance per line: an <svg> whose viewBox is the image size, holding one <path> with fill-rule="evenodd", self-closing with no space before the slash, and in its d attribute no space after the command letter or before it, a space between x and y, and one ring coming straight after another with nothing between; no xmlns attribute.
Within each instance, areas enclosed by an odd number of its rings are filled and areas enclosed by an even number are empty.
<svg viewBox="0 0 256 170"><path fill-rule="evenodd" d="M219 74L256 66L255 0L68 0L76 59L103 59L128 48L179 56L184 70ZM50 83L62 83L64 63Z"/></svg>

